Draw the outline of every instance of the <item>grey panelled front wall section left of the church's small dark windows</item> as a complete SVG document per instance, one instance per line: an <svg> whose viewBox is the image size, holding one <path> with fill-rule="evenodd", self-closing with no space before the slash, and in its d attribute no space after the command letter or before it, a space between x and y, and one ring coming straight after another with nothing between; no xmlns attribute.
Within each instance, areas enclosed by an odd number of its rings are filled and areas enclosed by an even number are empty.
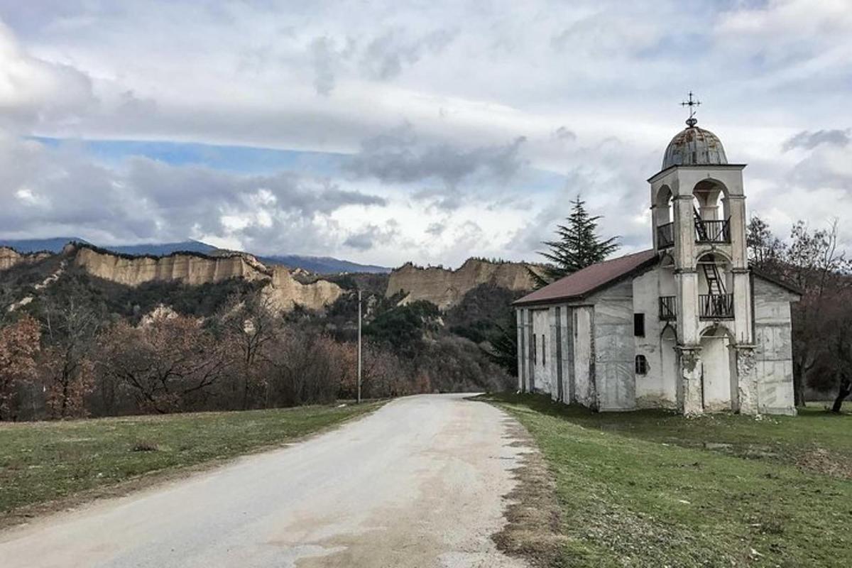
<svg viewBox="0 0 852 568"><path fill-rule="evenodd" d="M595 379L600 410L636 407L633 286L630 280L590 297L595 304Z"/></svg>

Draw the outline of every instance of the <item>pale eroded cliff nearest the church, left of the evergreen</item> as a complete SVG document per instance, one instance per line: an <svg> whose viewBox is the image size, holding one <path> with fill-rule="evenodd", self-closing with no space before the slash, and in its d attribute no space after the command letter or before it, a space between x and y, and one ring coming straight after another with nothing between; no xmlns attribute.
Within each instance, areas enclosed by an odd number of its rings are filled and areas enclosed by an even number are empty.
<svg viewBox="0 0 852 568"><path fill-rule="evenodd" d="M404 302L426 300L441 309L452 307L480 284L494 284L508 290L533 289L527 272L532 265L521 262L489 262L468 259L456 270L440 267L415 267L406 263L390 273L388 297L404 292Z"/></svg>

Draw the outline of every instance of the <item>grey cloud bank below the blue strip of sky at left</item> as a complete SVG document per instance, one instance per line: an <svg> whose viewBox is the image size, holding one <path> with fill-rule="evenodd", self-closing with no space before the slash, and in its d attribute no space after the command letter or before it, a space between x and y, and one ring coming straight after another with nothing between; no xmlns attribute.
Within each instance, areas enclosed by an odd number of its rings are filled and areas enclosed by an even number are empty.
<svg viewBox="0 0 852 568"><path fill-rule="evenodd" d="M257 252L340 242L343 208L385 198L282 171L239 175L132 157L98 164L73 145L0 138L3 236L76 234L99 242L230 238Z"/></svg>

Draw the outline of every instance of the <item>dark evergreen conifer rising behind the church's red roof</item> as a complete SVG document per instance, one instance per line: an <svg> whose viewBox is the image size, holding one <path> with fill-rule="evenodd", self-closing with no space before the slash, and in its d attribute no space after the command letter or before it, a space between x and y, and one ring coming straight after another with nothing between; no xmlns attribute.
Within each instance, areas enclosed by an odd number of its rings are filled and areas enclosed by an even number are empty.
<svg viewBox="0 0 852 568"><path fill-rule="evenodd" d="M567 218L567 224L556 228L558 240L545 241L544 244L550 250L538 253L550 261L544 266L544 273L530 271L536 288L601 262L619 250L618 237L602 240L597 235L600 215L590 216L579 195L571 204L571 215Z"/></svg>

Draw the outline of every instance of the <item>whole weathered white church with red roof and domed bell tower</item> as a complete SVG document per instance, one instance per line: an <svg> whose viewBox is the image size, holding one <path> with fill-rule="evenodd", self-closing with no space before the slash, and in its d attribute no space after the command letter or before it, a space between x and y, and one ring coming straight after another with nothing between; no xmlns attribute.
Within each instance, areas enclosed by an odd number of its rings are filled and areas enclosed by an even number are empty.
<svg viewBox="0 0 852 568"><path fill-rule="evenodd" d="M648 179L653 249L515 301L521 391L601 411L795 414L800 294L748 265L745 168L690 113Z"/></svg>

